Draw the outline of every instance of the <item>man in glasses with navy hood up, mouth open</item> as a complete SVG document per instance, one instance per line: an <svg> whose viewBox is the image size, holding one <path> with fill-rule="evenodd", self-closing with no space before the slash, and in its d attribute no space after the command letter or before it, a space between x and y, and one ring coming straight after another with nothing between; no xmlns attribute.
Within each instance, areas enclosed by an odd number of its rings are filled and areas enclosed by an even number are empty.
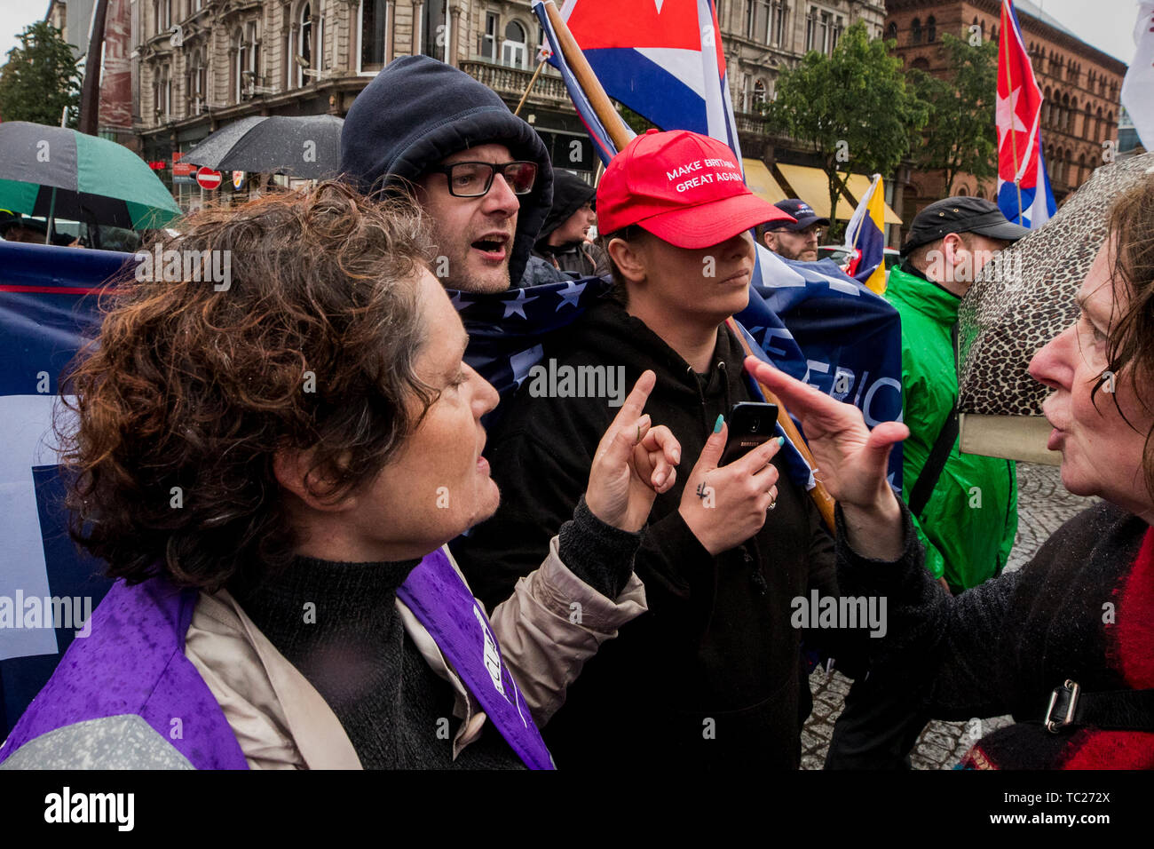
<svg viewBox="0 0 1154 849"><path fill-rule="evenodd" d="M366 195L410 193L428 214L447 289L500 292L567 280L530 256L553 202L537 132L462 70L424 55L389 64L357 96L340 172Z"/></svg>

